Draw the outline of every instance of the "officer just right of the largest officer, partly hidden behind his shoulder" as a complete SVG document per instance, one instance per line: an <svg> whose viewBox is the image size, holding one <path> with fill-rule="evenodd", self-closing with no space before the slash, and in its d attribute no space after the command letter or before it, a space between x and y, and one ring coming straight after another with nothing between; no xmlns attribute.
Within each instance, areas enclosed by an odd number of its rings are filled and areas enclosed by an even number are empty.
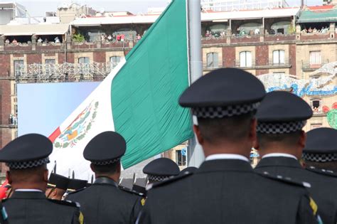
<svg viewBox="0 0 337 224"><path fill-rule="evenodd" d="M306 141L302 128L312 114L311 107L301 97L284 91L269 92L256 114L262 159L255 170L309 182L308 190L319 206L323 223L336 223L337 196L331 195L337 187L336 181L329 184L299 163Z"/></svg>

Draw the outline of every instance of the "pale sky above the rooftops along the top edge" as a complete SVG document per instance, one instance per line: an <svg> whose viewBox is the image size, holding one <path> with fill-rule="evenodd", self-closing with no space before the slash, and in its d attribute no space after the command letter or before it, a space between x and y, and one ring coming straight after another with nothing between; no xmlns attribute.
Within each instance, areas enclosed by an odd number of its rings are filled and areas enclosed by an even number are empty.
<svg viewBox="0 0 337 224"><path fill-rule="evenodd" d="M9 1L9 0L0 0ZM14 0L15 1L15 0ZM72 0L16 0L26 7L31 16L45 16L46 11L56 11L63 3L70 3ZM165 7L169 0L73 0L79 4L87 4L93 9L100 11L131 11L134 14L146 13L149 7ZM321 5L323 0L304 0L308 6ZM299 6L301 0L287 0L290 6Z"/></svg>

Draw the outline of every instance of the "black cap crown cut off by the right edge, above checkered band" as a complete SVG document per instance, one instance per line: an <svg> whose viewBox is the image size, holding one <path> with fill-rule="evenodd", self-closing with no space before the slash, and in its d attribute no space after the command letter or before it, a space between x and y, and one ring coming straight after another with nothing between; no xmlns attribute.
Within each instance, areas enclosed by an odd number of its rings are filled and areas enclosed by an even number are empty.
<svg viewBox="0 0 337 224"><path fill-rule="evenodd" d="M307 132L304 153L310 154L336 154L337 130L320 127Z"/></svg>

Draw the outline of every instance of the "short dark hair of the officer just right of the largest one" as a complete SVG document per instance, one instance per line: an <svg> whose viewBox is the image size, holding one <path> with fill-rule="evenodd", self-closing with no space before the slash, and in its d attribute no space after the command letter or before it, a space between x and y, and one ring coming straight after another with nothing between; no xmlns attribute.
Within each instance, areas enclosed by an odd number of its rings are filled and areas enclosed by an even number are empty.
<svg viewBox="0 0 337 224"><path fill-rule="evenodd" d="M261 148L267 146L271 142L278 142L284 146L292 146L299 142L301 132L301 130L284 134L265 134L257 132L257 140Z"/></svg>

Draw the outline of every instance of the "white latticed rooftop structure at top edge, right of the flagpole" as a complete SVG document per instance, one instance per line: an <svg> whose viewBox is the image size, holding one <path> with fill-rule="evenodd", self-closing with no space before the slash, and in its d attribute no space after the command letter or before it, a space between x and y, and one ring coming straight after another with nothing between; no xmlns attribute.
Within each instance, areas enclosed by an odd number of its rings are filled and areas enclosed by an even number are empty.
<svg viewBox="0 0 337 224"><path fill-rule="evenodd" d="M247 9L279 9L288 7L285 0L201 0L204 10L237 11Z"/></svg>

